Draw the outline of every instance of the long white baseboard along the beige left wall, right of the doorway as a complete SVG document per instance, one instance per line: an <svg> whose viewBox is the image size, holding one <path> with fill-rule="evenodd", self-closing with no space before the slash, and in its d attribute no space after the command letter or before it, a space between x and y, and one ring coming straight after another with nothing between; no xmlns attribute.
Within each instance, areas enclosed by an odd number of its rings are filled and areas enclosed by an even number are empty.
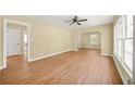
<svg viewBox="0 0 135 101"><path fill-rule="evenodd" d="M29 60L29 62L34 62L34 61L41 60L41 59L45 59L45 58L53 56L53 55L57 55L57 54L60 54L60 53L64 53L64 52L69 52L69 51L72 51L72 49L69 49L69 50L65 50L65 51L61 51L61 52L57 52L57 53L51 53L51 54L39 56L39 58L35 58L35 59Z"/></svg>

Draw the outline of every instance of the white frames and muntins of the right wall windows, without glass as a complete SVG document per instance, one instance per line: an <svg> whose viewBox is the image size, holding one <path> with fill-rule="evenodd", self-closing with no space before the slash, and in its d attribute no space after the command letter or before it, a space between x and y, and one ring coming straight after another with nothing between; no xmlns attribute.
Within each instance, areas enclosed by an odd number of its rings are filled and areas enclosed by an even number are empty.
<svg viewBox="0 0 135 101"><path fill-rule="evenodd" d="M133 16L132 16L133 17ZM125 58L125 40L127 39L132 39L133 40L133 36L132 37L126 37L127 34L127 28L128 27L133 27L133 23L127 25L127 16L123 15L121 16L118 22L114 25L114 35L113 35L113 53L115 55L115 58L120 61L120 63L123 65L123 67L125 70L127 70L131 74L133 74L133 66L132 68L125 63L124 58ZM119 27L119 28L118 28ZM121 30L120 30L121 27ZM121 37L120 37L121 36ZM121 58L119 55L119 40L122 41L121 43ZM115 49L116 48L116 49ZM131 53L131 52L128 52ZM131 53L132 55L132 65L133 65L133 53Z"/></svg>

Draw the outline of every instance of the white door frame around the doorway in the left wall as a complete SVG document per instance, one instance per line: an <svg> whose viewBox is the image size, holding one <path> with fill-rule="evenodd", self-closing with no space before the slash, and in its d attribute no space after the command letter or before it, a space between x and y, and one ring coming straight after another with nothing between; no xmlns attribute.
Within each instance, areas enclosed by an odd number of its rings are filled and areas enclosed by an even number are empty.
<svg viewBox="0 0 135 101"><path fill-rule="evenodd" d="M8 23L13 23L13 24L19 24L27 27L27 62L30 61L30 25L28 23L15 21L15 20L9 20L9 18L3 18L3 63L2 63L2 68L7 67L7 30L8 30Z"/></svg>

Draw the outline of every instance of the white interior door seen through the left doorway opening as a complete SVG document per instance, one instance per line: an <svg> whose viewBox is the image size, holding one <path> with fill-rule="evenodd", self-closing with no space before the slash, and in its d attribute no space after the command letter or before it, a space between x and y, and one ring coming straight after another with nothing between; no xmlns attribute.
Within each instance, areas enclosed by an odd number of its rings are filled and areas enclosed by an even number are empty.
<svg viewBox="0 0 135 101"><path fill-rule="evenodd" d="M20 54L20 36L19 29L8 29L7 31L7 53L8 55Z"/></svg>

